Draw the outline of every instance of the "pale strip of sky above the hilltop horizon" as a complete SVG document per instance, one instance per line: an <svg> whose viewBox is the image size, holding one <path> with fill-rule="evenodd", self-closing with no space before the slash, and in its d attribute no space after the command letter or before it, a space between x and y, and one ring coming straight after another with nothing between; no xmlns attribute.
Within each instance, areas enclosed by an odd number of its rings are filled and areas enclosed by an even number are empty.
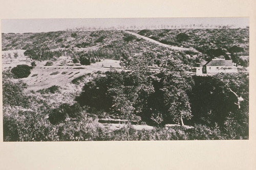
<svg viewBox="0 0 256 170"><path fill-rule="evenodd" d="M63 31L81 27L110 28L118 26L182 26L182 25L233 25L234 28L249 26L249 17L205 18L69 18L69 19L2 19L2 33L36 33Z"/></svg>

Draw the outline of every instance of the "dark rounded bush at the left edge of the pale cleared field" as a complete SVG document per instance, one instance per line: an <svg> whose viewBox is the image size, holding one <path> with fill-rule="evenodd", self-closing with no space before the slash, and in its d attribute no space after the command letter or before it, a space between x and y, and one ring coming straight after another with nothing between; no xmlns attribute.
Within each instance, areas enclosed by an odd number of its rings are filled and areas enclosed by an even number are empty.
<svg viewBox="0 0 256 170"><path fill-rule="evenodd" d="M14 78L27 78L30 75L30 70L33 67L30 67L26 64L17 65L11 69L11 72L14 74Z"/></svg>

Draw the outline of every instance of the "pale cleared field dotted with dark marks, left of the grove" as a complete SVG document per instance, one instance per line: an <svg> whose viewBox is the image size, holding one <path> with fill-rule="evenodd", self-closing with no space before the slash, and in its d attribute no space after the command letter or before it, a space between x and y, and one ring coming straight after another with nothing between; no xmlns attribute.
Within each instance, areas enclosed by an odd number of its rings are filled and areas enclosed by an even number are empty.
<svg viewBox="0 0 256 170"><path fill-rule="evenodd" d="M102 65L104 67L102 67ZM64 86L70 83L73 79L85 74L108 71L110 66L120 68L119 61L103 60L88 66L36 66L28 78L23 81L28 84L27 90L39 90L49 88L53 85ZM33 76L36 75L36 76Z"/></svg>

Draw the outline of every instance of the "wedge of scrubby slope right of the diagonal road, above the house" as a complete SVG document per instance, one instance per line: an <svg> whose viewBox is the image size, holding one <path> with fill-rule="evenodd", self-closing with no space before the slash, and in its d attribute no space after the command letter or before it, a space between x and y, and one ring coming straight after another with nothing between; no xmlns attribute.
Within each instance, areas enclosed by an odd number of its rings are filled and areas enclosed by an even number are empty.
<svg viewBox="0 0 256 170"><path fill-rule="evenodd" d="M157 41L182 47L194 47L204 53L209 48L230 48L238 45L244 48L245 55L249 54L249 28L246 29L172 29L172 30L143 30L133 31ZM176 36L186 33L189 40L179 42Z"/></svg>

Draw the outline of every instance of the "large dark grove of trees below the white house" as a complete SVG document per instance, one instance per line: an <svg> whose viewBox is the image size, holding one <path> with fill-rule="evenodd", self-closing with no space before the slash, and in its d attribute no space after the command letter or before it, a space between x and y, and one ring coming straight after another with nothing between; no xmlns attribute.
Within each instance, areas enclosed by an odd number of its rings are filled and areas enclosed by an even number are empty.
<svg viewBox="0 0 256 170"><path fill-rule="evenodd" d="M223 138L248 138L248 74L191 77L183 67L167 60L160 72L141 65L106 72L86 83L76 101L114 118L160 127L201 124Z"/></svg>

